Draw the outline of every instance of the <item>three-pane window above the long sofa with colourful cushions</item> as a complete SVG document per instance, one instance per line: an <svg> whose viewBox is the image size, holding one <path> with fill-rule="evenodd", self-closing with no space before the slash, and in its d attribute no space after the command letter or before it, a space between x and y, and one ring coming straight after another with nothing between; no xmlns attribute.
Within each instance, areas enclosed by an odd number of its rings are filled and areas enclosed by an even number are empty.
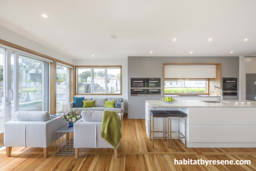
<svg viewBox="0 0 256 171"><path fill-rule="evenodd" d="M76 66L76 94L121 95L121 66Z"/></svg>

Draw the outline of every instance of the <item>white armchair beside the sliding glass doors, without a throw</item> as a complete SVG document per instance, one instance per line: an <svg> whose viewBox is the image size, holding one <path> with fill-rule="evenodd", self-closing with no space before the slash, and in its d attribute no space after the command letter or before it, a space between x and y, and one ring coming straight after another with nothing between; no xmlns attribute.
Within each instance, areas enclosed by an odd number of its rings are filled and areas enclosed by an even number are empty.
<svg viewBox="0 0 256 171"><path fill-rule="evenodd" d="M44 157L48 157L48 147L55 139L55 131L67 124L61 116L51 119L44 111L15 112L16 120L5 123L4 144L6 156L11 156L13 146L44 148Z"/></svg>

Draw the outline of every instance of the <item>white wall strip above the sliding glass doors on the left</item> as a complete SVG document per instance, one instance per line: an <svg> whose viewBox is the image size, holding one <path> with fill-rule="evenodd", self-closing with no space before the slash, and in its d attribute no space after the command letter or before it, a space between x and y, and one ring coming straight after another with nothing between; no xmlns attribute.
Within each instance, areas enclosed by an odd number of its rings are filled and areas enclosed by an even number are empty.
<svg viewBox="0 0 256 171"><path fill-rule="evenodd" d="M53 57L55 59L59 59L59 60L74 64L74 60L71 59L69 56L66 56L65 54L60 54L52 49L45 47L44 45L40 45L33 40L23 37L1 26L0 26L0 39L9 41L13 44L39 52L41 54Z"/></svg>

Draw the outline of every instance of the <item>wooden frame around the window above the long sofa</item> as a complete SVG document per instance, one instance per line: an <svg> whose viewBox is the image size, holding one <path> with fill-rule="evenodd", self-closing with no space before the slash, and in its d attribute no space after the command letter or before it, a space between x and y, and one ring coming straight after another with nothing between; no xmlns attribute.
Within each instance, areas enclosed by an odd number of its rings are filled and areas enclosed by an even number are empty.
<svg viewBox="0 0 256 171"><path fill-rule="evenodd" d="M79 68L120 68L120 93L77 93L77 69ZM90 95L90 96L97 96L97 95L113 95L113 96L120 96L122 95L122 66L75 66L75 95Z"/></svg>

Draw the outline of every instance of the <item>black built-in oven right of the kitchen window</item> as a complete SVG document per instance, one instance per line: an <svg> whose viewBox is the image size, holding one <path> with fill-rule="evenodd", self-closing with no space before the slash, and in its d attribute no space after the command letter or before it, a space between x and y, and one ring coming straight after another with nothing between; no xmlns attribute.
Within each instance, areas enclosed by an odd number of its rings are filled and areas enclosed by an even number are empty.
<svg viewBox="0 0 256 171"><path fill-rule="evenodd" d="M238 78L222 78L223 96L238 95Z"/></svg>

